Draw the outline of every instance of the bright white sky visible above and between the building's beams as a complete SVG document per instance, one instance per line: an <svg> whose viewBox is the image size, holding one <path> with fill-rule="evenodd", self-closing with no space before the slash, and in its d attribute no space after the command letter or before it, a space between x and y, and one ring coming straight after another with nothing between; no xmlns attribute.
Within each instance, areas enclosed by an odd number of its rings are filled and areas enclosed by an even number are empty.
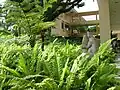
<svg viewBox="0 0 120 90"><path fill-rule="evenodd" d="M3 3L5 0L0 0L0 3ZM85 2L85 6L80 8L75 8L78 12L88 12L88 11L97 11L98 5L97 0L82 0L82 2ZM95 20L95 15L93 16L83 16L86 20Z"/></svg>

